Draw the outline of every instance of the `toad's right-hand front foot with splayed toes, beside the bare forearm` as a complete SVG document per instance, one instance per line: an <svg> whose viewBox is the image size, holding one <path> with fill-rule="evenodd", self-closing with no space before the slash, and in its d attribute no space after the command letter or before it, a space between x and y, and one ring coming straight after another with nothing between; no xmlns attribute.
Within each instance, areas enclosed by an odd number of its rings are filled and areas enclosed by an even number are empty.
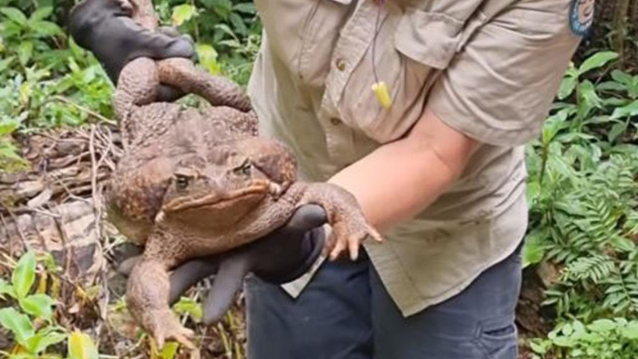
<svg viewBox="0 0 638 359"><path fill-rule="evenodd" d="M319 204L326 211L332 233L326 242L325 252L336 259L348 250L350 259L359 256L359 246L366 238L382 241L381 235L367 223L357 199L345 189L332 183L307 185L300 204Z"/></svg>

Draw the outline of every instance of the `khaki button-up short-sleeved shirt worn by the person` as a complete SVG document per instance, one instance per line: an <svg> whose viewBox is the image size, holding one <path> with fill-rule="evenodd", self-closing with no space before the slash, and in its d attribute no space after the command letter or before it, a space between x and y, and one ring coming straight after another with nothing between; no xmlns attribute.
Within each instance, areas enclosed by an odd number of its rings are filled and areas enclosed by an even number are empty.
<svg viewBox="0 0 638 359"><path fill-rule="evenodd" d="M326 181L401 138L426 107L483 143L447 193L384 243L365 243L405 316L512 253L527 225L523 144L580 40L570 0L255 3L264 36L249 93L262 134L290 145L301 179ZM371 90L373 67L390 109ZM310 276L285 289L299 294Z"/></svg>

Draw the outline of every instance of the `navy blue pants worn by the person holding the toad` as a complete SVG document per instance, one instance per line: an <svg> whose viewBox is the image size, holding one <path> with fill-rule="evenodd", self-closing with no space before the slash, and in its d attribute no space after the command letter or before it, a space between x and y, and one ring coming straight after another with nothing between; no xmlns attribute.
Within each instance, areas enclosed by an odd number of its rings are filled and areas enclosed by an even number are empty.
<svg viewBox="0 0 638 359"><path fill-rule="evenodd" d="M407 318L361 257L324 263L295 300L248 279L248 358L516 359L519 250L457 296Z"/></svg>

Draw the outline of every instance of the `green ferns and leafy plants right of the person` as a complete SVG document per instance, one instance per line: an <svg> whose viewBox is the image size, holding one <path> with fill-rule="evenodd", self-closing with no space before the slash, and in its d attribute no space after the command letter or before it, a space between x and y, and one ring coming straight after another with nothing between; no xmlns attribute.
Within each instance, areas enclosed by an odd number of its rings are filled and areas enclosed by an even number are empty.
<svg viewBox="0 0 638 359"><path fill-rule="evenodd" d="M560 269L544 305L561 324L530 342L539 358L638 355L638 76L612 70L617 58L571 65L526 149L524 263Z"/></svg>

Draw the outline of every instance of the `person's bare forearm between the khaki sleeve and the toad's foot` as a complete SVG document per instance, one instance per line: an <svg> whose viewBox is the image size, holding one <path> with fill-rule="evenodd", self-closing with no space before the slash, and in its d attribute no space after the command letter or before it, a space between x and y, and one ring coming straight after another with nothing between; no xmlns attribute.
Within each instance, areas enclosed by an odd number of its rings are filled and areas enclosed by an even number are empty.
<svg viewBox="0 0 638 359"><path fill-rule="evenodd" d="M350 191L379 231L408 220L459 178L477 143L426 113L410 135L385 144L330 182Z"/></svg>

